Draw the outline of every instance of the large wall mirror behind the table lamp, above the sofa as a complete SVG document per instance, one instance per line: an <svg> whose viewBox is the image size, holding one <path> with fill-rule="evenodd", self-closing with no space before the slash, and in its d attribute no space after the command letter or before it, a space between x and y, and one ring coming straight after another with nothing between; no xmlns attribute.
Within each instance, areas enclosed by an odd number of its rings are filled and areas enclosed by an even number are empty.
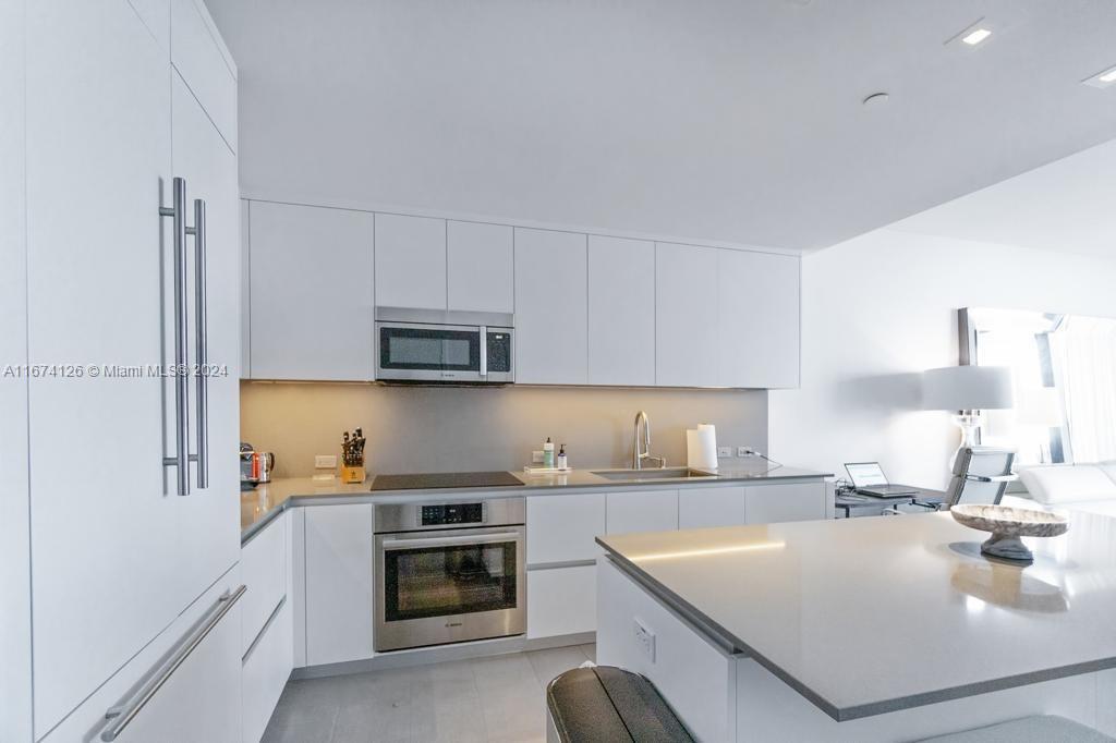
<svg viewBox="0 0 1116 743"><path fill-rule="evenodd" d="M985 413L982 444L1019 464L1116 460L1116 319L966 308L959 329L962 364L1012 370L1016 406Z"/></svg>

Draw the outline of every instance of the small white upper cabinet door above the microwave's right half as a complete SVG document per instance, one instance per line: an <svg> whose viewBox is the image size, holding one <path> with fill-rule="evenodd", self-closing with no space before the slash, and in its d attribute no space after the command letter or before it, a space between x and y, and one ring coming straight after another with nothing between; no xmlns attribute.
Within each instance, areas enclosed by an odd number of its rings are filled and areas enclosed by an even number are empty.
<svg viewBox="0 0 1116 743"><path fill-rule="evenodd" d="M514 312L512 245L510 226L450 221L446 224L449 309Z"/></svg>

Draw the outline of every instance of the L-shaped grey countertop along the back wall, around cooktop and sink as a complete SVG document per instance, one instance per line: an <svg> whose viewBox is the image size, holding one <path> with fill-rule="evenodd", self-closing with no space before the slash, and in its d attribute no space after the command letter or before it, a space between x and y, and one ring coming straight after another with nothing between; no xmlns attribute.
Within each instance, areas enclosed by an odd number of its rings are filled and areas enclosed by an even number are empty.
<svg viewBox="0 0 1116 743"><path fill-rule="evenodd" d="M312 477L282 477L270 483L256 486L240 493L240 532L241 541L248 541L271 519L291 505L312 503L357 503L357 502L401 502L411 500L434 500L469 495L478 492L499 492L508 495L554 493L564 490L583 490L593 488L685 488L710 486L720 483L741 482L783 482L795 480L818 480L833 475L814 470L756 463L751 466L738 465L722 467L715 474L701 477L657 477L655 470L648 470L647 479L616 481L609 480L596 472L609 472L609 467L574 470L566 474L529 475L525 472L512 472L523 482L522 486L501 488L439 488L436 490L377 490L372 492L374 477L358 484L345 484L333 479L318 481Z"/></svg>

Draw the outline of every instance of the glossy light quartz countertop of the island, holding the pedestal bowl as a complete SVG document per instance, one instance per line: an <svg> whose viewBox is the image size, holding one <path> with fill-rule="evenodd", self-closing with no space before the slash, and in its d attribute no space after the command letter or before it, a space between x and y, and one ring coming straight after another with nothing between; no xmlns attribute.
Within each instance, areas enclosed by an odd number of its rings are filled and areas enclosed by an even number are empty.
<svg viewBox="0 0 1116 743"><path fill-rule="evenodd" d="M837 721L1116 667L1116 520L982 557L949 513L597 541L722 647Z"/></svg>

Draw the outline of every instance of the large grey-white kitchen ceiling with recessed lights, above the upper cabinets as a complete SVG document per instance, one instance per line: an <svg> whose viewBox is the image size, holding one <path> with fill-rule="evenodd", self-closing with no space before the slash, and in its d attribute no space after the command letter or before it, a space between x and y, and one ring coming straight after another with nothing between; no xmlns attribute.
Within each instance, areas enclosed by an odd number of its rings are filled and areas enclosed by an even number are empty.
<svg viewBox="0 0 1116 743"><path fill-rule="evenodd" d="M208 2L256 196L809 250L1116 137L1109 0Z"/></svg>

